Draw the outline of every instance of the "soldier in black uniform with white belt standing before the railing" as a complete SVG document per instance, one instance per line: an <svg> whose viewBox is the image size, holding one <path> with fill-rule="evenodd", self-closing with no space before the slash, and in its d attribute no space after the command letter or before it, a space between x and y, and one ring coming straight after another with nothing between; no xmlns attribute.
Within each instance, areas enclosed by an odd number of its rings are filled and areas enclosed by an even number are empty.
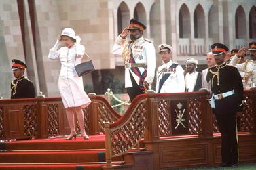
<svg viewBox="0 0 256 170"><path fill-rule="evenodd" d="M206 77L211 83L213 112L221 132L221 167L238 166L238 138L236 115L243 110L242 79L238 69L224 61L228 51L221 43L211 45L216 66L209 68Z"/></svg>

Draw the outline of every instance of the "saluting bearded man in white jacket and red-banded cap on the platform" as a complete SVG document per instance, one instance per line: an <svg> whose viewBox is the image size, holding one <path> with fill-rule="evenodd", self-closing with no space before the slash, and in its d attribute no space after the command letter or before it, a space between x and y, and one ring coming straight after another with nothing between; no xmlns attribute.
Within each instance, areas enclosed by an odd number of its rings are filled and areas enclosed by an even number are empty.
<svg viewBox="0 0 256 170"><path fill-rule="evenodd" d="M113 54L122 54L124 58L125 87L131 101L151 86L155 75L155 47L153 42L143 38L145 29L144 24L131 19L130 26L122 30L113 46ZM129 32L130 41L126 41Z"/></svg>

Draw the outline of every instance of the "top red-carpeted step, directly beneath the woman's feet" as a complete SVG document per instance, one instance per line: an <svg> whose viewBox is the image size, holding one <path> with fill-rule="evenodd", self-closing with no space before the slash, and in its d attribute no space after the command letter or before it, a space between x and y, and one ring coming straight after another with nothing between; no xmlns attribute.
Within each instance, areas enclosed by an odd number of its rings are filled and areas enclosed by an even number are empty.
<svg viewBox="0 0 256 170"><path fill-rule="evenodd" d="M105 135L92 135L89 140L77 137L76 140L65 140L65 138L20 140L13 142L1 142L0 150L83 150L104 149Z"/></svg>

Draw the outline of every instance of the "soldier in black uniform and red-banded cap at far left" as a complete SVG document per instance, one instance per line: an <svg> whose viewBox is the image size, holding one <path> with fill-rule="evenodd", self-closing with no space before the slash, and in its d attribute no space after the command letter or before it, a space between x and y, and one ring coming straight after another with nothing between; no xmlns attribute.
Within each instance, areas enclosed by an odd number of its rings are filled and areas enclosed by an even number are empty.
<svg viewBox="0 0 256 170"><path fill-rule="evenodd" d="M11 99L35 98L35 87L24 76L25 68L24 62L17 59L12 60L12 72L16 79L11 84Z"/></svg>

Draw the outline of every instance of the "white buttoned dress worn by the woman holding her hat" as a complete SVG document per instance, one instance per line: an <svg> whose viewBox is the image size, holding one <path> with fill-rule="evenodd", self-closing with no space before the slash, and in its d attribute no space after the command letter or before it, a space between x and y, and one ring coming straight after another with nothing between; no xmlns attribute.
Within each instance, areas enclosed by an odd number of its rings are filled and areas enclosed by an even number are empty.
<svg viewBox="0 0 256 170"><path fill-rule="evenodd" d="M81 106L85 108L91 102L84 91L83 78L77 75L75 65L80 64L84 55L84 46L74 44L61 47L58 51L50 49L48 58L59 59L61 63L58 88L65 108Z"/></svg>

